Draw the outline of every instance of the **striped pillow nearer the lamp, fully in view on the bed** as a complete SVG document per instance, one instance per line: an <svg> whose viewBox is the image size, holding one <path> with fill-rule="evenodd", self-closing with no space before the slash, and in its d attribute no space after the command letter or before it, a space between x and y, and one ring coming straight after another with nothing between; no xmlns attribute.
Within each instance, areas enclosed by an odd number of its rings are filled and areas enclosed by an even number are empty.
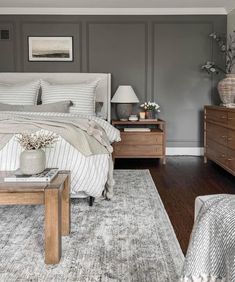
<svg viewBox="0 0 235 282"><path fill-rule="evenodd" d="M50 84L41 81L42 104L72 101L70 113L95 115L95 89L98 81L81 84Z"/></svg>

